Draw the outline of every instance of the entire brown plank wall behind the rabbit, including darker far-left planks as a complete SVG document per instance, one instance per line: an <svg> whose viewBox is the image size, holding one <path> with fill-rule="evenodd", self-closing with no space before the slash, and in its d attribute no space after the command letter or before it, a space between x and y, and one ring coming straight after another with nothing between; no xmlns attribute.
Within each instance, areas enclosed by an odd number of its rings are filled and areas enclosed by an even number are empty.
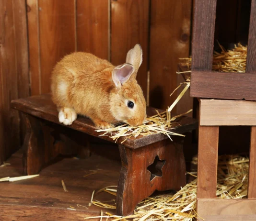
<svg viewBox="0 0 256 221"><path fill-rule="evenodd" d="M192 0L0 0L0 163L22 140L20 118L10 110L10 101L49 92L53 66L71 52L90 52L120 65L128 50L140 43L138 82L144 95L150 95L151 106L170 105L175 95L169 95L182 81L175 74L178 58L189 54L191 4Z"/></svg>

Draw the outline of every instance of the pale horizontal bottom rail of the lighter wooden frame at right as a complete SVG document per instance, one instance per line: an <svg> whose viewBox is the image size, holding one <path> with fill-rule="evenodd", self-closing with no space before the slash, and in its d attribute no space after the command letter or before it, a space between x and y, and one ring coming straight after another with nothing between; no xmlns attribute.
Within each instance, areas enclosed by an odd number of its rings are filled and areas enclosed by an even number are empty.
<svg viewBox="0 0 256 221"><path fill-rule="evenodd" d="M198 199L199 221L255 221L255 199Z"/></svg>

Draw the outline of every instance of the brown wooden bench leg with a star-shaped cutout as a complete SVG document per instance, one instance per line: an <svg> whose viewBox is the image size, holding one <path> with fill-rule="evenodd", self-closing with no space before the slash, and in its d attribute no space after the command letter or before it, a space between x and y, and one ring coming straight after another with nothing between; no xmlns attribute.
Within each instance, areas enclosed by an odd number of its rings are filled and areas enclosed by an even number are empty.
<svg viewBox="0 0 256 221"><path fill-rule="evenodd" d="M179 139L179 138L178 138ZM155 190L179 190L186 184L183 142L169 139L138 149L119 145L122 160L116 213L127 216Z"/></svg>

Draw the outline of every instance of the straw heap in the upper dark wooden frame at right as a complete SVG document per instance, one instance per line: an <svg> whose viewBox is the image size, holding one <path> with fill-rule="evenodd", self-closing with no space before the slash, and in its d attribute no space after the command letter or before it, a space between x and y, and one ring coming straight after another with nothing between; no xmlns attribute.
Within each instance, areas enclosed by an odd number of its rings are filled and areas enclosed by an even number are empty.
<svg viewBox="0 0 256 221"><path fill-rule="evenodd" d="M220 44L219 44L220 45ZM226 50L220 45L221 53L213 53L212 70L217 72L239 72L244 73L246 68L247 46L235 44L233 50ZM191 69L191 57L180 58L181 65ZM190 71L186 71L188 73ZM178 72L184 73L184 72Z"/></svg>

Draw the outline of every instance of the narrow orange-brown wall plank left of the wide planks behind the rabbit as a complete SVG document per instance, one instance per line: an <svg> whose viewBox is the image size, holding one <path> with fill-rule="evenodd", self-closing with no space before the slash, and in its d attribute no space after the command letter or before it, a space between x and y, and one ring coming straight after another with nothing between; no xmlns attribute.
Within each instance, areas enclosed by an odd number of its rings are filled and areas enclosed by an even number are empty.
<svg viewBox="0 0 256 221"><path fill-rule="evenodd" d="M42 93L38 12L38 0L27 0L29 74L31 95L38 95Z"/></svg>

